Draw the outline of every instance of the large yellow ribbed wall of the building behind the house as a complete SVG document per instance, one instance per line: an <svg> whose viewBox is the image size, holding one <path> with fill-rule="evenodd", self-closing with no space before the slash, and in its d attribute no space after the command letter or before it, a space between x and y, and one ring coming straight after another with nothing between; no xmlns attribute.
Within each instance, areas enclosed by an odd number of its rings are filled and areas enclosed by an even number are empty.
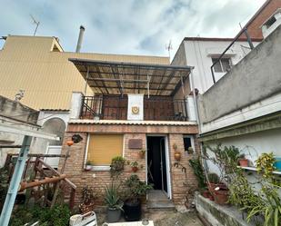
<svg viewBox="0 0 281 226"><path fill-rule="evenodd" d="M169 64L168 57L54 52L54 44L62 50L55 37L9 35L0 50L0 94L14 99L23 89L21 103L31 108L68 110L72 92L85 89L82 75L68 58Z"/></svg>

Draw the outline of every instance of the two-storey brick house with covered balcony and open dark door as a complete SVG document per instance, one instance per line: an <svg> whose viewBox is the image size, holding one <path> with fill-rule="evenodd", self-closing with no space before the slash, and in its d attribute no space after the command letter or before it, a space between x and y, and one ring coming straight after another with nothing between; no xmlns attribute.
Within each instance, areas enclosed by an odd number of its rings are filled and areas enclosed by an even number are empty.
<svg viewBox="0 0 281 226"><path fill-rule="evenodd" d="M190 85L184 84L189 83L192 67L69 60L95 93L73 93L72 116L63 143L62 152L66 152L66 142L74 135L83 138L70 148L65 167L78 194L85 185L104 190L111 181L111 160L123 156L137 162L139 168L132 172L126 165L123 179L136 173L153 183L162 206L185 204L188 191L197 186L188 164L195 155L187 151L191 147L199 152L194 99L184 94L190 93ZM138 152L143 149L146 157L142 159ZM181 153L179 162L174 157L176 151ZM88 161L93 164L91 171L85 170ZM77 195L75 202L81 201ZM157 204L148 195L147 205Z"/></svg>

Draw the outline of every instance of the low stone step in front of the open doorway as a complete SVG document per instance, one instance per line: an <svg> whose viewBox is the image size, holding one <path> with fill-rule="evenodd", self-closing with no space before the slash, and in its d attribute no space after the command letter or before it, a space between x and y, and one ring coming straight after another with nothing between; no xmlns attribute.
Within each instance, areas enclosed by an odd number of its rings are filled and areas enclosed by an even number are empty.
<svg viewBox="0 0 281 226"><path fill-rule="evenodd" d="M147 193L147 208L148 209L169 209L175 210L173 201L166 197L166 193L161 190L151 190Z"/></svg>

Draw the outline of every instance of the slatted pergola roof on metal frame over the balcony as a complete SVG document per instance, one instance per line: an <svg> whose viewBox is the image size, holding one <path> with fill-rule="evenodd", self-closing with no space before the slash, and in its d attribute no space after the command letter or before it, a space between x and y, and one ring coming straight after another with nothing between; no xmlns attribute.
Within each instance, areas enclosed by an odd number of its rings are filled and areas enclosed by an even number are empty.
<svg viewBox="0 0 281 226"><path fill-rule="evenodd" d="M95 93L174 95L193 67L168 64L135 64L70 58Z"/></svg>

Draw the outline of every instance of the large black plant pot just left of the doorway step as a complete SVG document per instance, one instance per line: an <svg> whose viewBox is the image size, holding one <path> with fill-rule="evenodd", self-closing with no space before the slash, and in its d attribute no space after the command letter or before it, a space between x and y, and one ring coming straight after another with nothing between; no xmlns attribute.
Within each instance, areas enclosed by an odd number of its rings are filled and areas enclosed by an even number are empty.
<svg viewBox="0 0 281 226"><path fill-rule="evenodd" d="M141 201L125 201L123 210L125 221L139 221L142 216Z"/></svg>

